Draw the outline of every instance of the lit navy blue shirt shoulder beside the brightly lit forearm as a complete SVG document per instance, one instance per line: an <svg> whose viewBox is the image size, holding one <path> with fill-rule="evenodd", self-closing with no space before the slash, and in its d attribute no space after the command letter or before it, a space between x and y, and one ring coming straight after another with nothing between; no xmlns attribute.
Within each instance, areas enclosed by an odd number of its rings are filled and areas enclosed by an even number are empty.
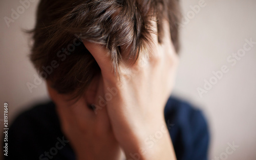
<svg viewBox="0 0 256 160"><path fill-rule="evenodd" d="M203 112L170 97L164 110L177 159L207 159L209 131Z"/></svg>

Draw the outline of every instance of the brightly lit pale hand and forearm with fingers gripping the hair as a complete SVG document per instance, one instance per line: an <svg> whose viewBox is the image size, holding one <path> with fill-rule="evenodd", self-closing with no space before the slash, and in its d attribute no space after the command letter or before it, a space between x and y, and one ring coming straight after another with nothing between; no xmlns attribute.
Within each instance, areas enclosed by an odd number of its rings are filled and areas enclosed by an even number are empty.
<svg viewBox="0 0 256 160"><path fill-rule="evenodd" d="M152 24L157 33L156 22L152 21ZM120 80L112 72L108 49L83 41L102 74L100 81L106 106L97 113L105 112L105 108L108 111L115 138L127 159L133 158L134 153L140 159L176 159L169 134L163 134L153 148L145 144L145 139L154 135L165 124L164 106L172 91L178 64L167 22L164 24L164 31L163 44L159 44L157 35L152 34L153 42L148 47L150 50L147 53L146 50L141 52L141 55L149 54L149 58L140 56L134 65L126 62L120 64ZM167 130L166 125L164 129Z"/></svg>

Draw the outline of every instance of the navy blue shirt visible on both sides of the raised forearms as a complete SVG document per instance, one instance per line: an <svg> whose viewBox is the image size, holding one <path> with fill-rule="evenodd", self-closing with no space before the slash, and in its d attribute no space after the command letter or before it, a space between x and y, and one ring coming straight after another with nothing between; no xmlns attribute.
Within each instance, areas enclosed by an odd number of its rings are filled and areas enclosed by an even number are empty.
<svg viewBox="0 0 256 160"><path fill-rule="evenodd" d="M207 159L209 132L202 112L170 97L164 116L177 159ZM8 130L5 159L75 159L53 102L38 104L16 118Z"/></svg>

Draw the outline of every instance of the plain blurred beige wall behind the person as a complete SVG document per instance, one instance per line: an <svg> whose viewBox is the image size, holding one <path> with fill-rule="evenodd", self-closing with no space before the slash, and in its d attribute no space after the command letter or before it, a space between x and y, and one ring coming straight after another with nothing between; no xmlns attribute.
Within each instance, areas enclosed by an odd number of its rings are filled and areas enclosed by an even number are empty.
<svg viewBox="0 0 256 160"><path fill-rule="evenodd" d="M9 124L48 98L29 61L38 1L23 10L18 0L0 1L1 138L4 102ZM180 66L173 94L200 108L210 128L209 159L256 159L256 1L181 1ZM18 15L12 12L18 10ZM14 18L12 18L14 17ZM2 143L2 140L1 140ZM239 146L226 153L229 144Z"/></svg>

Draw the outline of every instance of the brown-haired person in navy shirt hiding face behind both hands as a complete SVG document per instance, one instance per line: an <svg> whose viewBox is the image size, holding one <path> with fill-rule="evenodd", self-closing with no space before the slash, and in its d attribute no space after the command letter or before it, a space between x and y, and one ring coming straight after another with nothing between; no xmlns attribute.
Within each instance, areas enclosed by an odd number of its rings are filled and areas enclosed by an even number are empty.
<svg viewBox="0 0 256 160"><path fill-rule="evenodd" d="M207 159L200 110L170 97L176 0L41 0L31 61L52 101L20 114L5 159Z"/></svg>

